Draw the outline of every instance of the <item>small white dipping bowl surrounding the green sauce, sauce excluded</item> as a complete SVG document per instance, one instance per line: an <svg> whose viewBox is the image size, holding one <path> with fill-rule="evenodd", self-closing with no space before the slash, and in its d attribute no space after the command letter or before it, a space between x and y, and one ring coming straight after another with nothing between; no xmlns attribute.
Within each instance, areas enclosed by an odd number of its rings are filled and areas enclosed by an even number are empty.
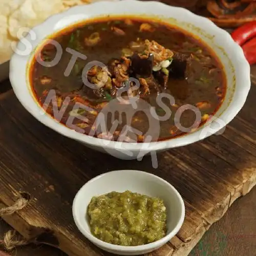
<svg viewBox="0 0 256 256"><path fill-rule="evenodd" d="M159 197L164 201L167 209L167 235L164 238L146 245L120 246L105 243L92 235L87 215L92 197L125 190ZM97 176L83 185L73 202L73 217L81 233L99 248L119 255L140 255L160 248L175 236L184 221L185 206L178 191L167 181L139 170L116 170Z"/></svg>

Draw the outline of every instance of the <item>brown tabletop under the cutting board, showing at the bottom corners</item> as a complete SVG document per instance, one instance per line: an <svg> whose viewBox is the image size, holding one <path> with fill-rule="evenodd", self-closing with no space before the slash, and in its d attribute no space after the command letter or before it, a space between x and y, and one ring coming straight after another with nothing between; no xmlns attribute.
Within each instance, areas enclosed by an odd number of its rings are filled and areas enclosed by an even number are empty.
<svg viewBox="0 0 256 256"><path fill-rule="evenodd" d="M189 256L256 255L256 187L230 207L224 217L212 225ZM0 222L0 239L10 226ZM67 256L50 246L24 246L12 256ZM0 256L2 255L0 252ZM165 256L165 255L162 255ZM182 255L180 255L182 256Z"/></svg>

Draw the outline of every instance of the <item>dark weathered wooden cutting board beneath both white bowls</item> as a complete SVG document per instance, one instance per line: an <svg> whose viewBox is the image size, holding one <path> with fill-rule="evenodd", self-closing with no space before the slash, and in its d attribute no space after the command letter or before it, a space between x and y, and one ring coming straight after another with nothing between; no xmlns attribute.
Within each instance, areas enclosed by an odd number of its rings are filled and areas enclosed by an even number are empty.
<svg viewBox="0 0 256 256"><path fill-rule="evenodd" d="M253 80L253 79L252 79ZM0 84L5 91L9 82ZM0 89L1 90L1 89ZM185 201L185 221L177 236L151 256L187 255L229 206L256 184L256 86L223 135L150 157L119 160L90 150L35 120L12 90L0 94L0 207L19 191L29 205L5 217L26 239L51 244L71 256L111 255L93 246L75 226L72 202L91 178L116 169L138 169L172 183ZM110 184L111 186L111 184Z"/></svg>

